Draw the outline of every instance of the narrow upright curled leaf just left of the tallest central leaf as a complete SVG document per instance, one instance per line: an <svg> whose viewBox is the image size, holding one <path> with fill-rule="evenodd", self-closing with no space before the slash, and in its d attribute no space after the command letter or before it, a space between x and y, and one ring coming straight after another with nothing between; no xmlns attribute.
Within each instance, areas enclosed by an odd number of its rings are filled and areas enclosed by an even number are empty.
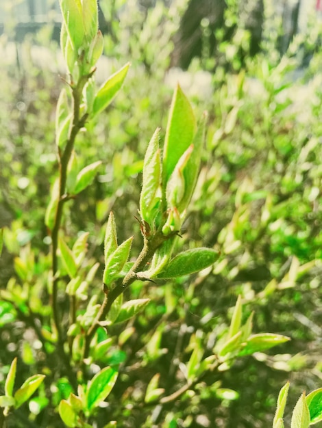
<svg viewBox="0 0 322 428"><path fill-rule="evenodd" d="M140 193L140 215L150 226L158 213L158 204L161 199L161 154L159 148L160 128L156 129L147 147L143 165L143 182Z"/></svg>

